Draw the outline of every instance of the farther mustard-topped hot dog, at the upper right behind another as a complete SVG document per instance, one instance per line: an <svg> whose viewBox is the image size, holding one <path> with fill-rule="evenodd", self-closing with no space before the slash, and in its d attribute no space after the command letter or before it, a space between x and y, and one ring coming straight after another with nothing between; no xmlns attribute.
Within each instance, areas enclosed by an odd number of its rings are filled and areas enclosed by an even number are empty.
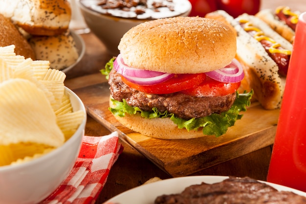
<svg viewBox="0 0 306 204"><path fill-rule="evenodd" d="M272 9L264 9L256 14L258 18L267 23L290 43L294 41L295 27L298 23L299 15L299 11L292 12L287 6L279 6L274 11Z"/></svg>

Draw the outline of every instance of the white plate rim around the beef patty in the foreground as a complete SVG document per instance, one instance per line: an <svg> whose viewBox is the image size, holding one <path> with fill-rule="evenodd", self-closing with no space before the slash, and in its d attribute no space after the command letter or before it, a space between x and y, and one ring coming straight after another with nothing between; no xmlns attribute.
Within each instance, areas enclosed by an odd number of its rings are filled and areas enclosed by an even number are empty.
<svg viewBox="0 0 306 204"><path fill-rule="evenodd" d="M205 183L216 183L221 182L228 177L225 176L189 176L189 177L179 177L173 179L166 179L162 181L156 181L153 183L141 185L126 192L123 192L105 204L153 204L157 196L163 194L180 193L186 187L193 184ZM260 181L271 185L272 187L282 190L282 191L292 191L296 194L306 197L306 193L302 191L295 190L293 188L285 187L282 185L269 183L265 181Z"/></svg>

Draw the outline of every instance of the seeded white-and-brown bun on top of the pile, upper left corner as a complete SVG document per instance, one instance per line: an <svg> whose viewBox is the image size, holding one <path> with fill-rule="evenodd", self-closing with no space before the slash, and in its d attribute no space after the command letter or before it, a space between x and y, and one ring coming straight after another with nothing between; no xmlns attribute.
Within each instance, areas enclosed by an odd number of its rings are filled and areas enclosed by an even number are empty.
<svg viewBox="0 0 306 204"><path fill-rule="evenodd" d="M71 18L67 0L1 0L0 13L32 35L61 34Z"/></svg>

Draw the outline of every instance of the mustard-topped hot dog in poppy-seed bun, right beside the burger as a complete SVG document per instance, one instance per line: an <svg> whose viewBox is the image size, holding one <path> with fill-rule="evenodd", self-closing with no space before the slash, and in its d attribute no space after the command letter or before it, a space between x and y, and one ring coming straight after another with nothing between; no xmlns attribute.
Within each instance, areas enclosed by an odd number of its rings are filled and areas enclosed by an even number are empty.
<svg viewBox="0 0 306 204"><path fill-rule="evenodd" d="M253 89L253 98L265 109L280 108L292 44L255 16L242 14L234 19L225 11L215 11L206 18L222 19L237 32L236 58L245 73L241 90Z"/></svg>

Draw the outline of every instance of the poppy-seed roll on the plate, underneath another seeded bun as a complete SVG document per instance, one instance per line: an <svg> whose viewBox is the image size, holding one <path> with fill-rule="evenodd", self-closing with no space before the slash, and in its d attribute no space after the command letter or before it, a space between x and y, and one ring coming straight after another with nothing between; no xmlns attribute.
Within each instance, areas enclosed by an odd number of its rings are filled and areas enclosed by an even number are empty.
<svg viewBox="0 0 306 204"><path fill-rule="evenodd" d="M50 62L50 68L63 69L79 57L75 41L69 31L56 36L32 36L29 39L37 59Z"/></svg>

